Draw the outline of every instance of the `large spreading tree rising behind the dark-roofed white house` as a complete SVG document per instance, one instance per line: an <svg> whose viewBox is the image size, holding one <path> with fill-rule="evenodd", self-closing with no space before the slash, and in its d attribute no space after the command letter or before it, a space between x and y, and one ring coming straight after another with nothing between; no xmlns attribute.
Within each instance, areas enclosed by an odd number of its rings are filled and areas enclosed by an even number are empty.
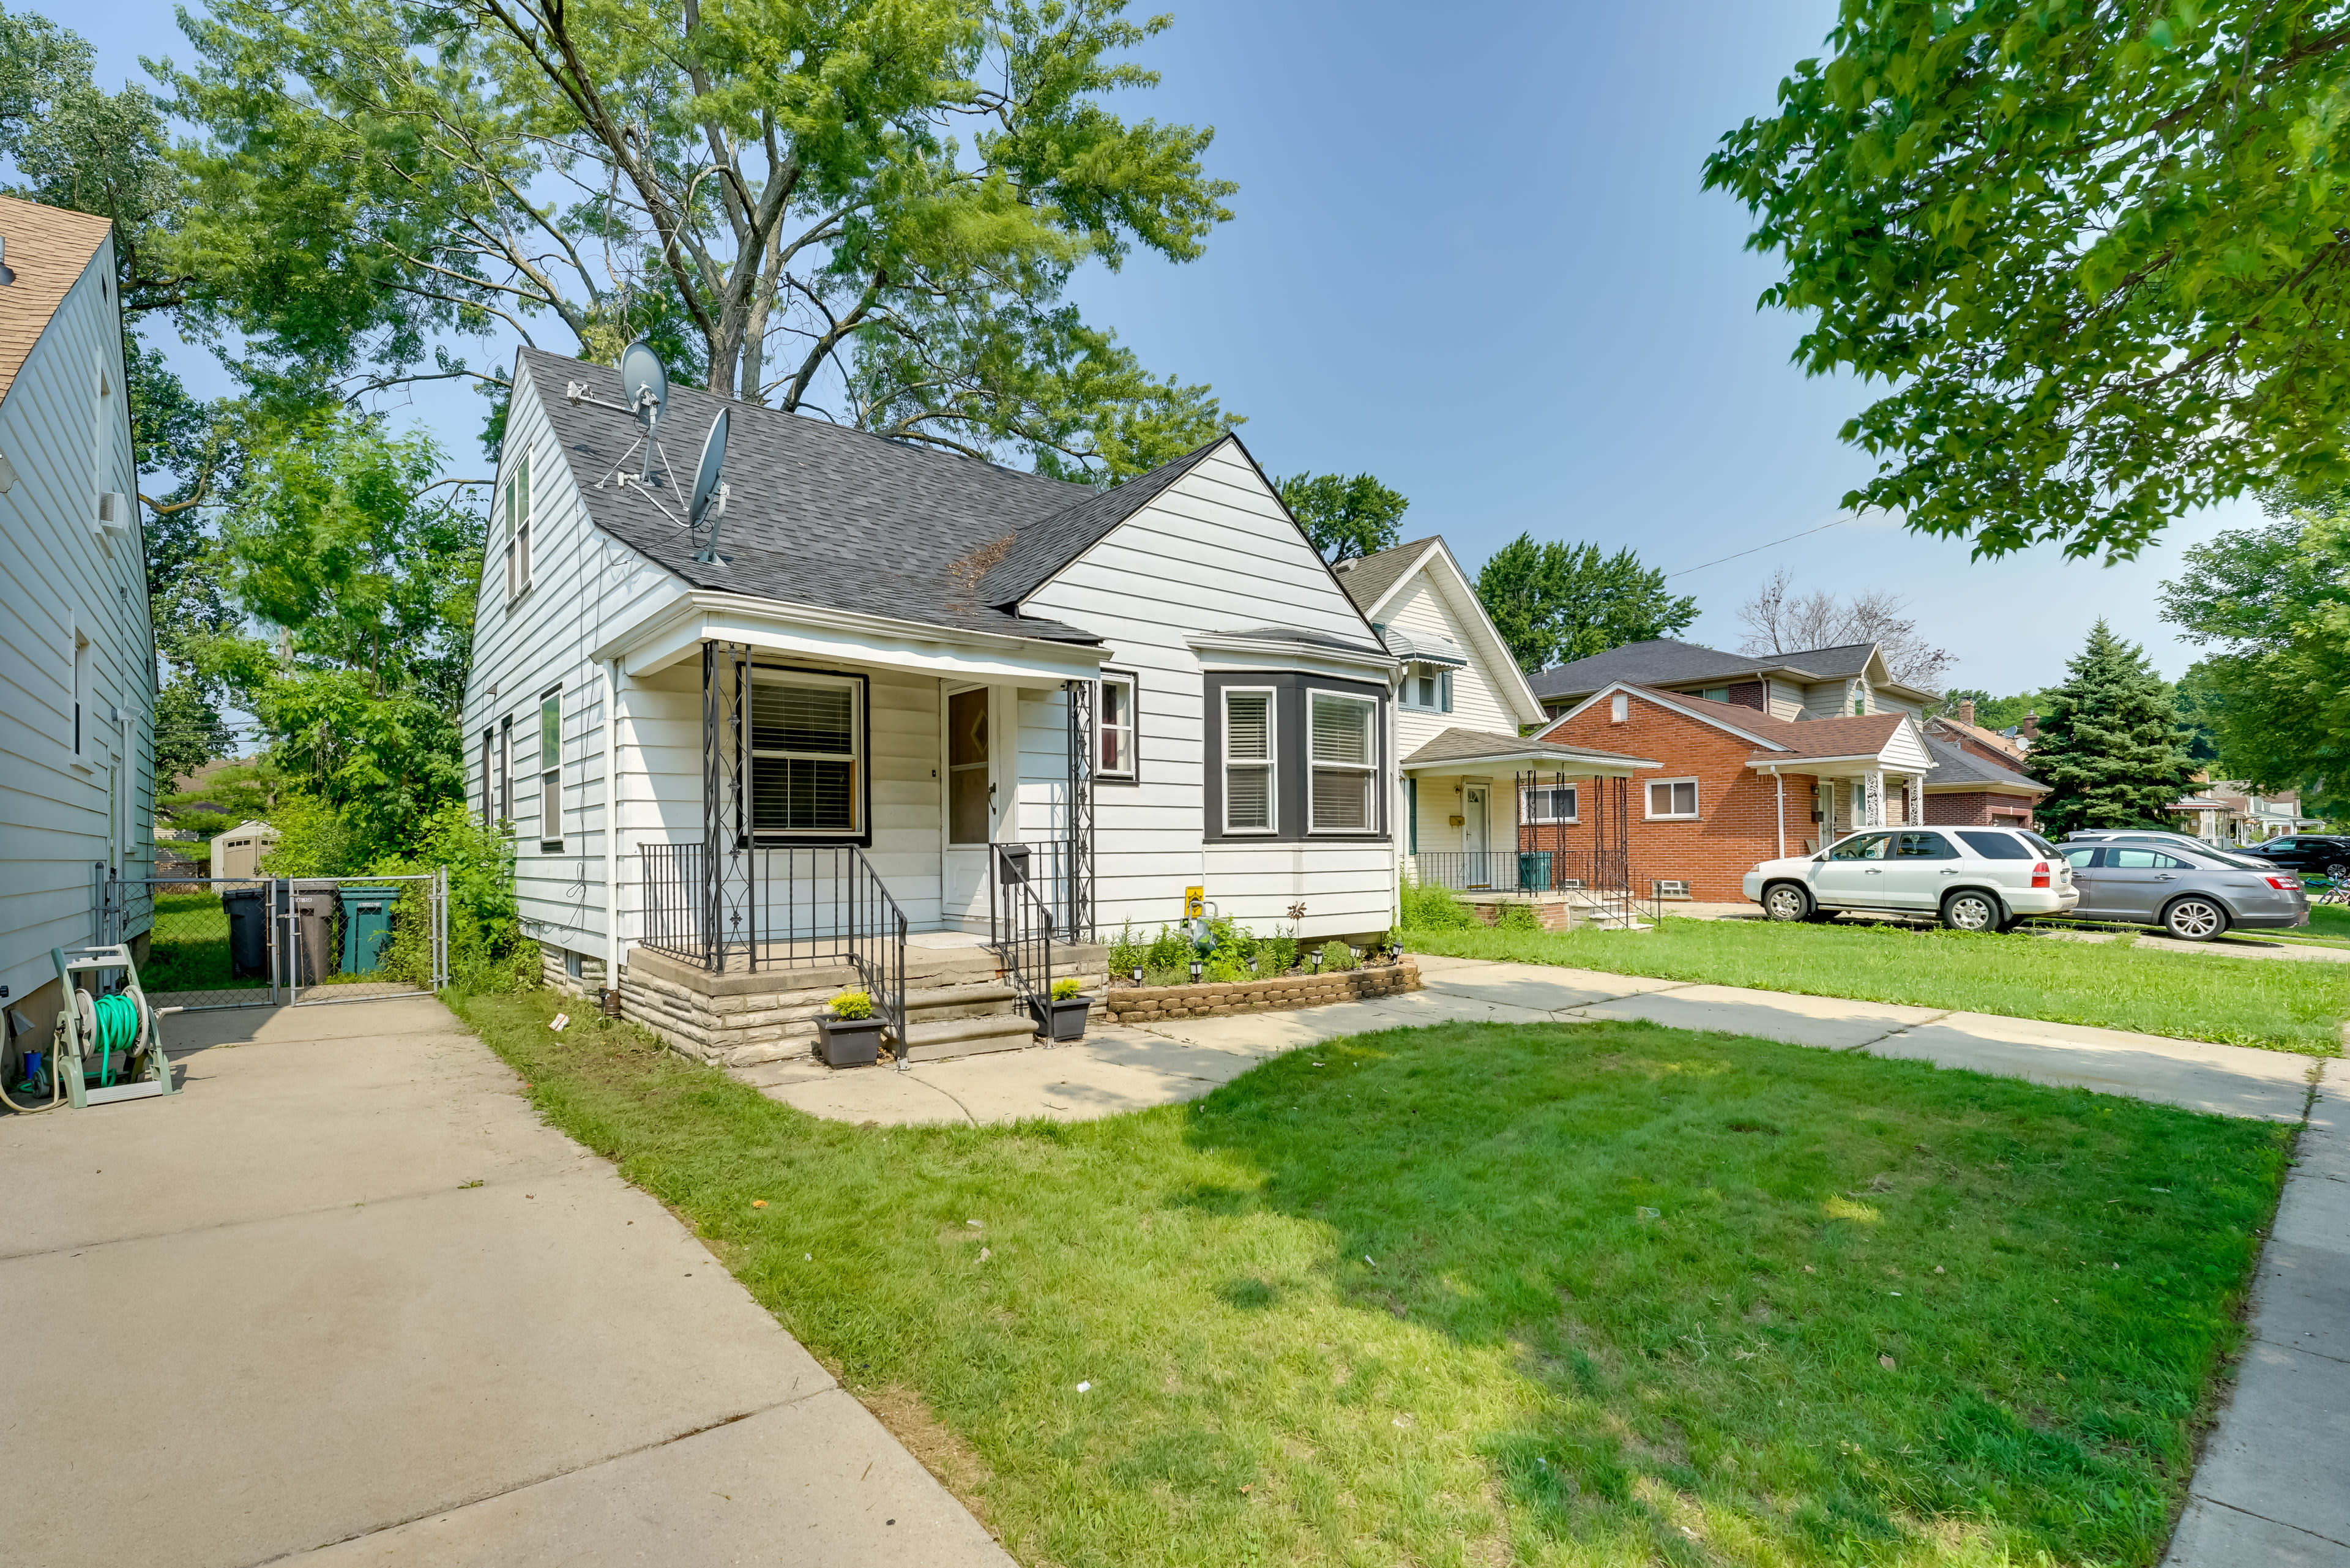
<svg viewBox="0 0 2350 1568"><path fill-rule="evenodd" d="M268 388L496 388L465 336L1119 477L1227 423L1065 299L1201 252L1210 132L1104 99L1121 0L221 0L169 71L204 127L193 320Z"/></svg>

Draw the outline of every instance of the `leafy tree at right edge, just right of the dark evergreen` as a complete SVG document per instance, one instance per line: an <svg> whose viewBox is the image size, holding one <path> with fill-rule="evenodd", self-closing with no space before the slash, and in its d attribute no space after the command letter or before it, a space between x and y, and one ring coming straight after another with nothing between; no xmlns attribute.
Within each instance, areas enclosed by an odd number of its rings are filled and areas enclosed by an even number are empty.
<svg viewBox="0 0 2350 1568"><path fill-rule="evenodd" d="M2341 496L2272 505L2186 552L2162 618L2211 649L2181 686L2218 766L2258 790L2350 783L2350 517Z"/></svg>

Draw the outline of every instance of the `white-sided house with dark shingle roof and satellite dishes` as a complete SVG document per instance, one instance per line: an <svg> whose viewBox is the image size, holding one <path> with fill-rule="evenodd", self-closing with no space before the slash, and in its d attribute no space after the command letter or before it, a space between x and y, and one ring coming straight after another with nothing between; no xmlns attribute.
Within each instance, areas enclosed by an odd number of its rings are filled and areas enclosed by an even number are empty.
<svg viewBox="0 0 2350 1568"><path fill-rule="evenodd" d="M712 552L682 487L721 409ZM1436 715L1238 437L1107 491L686 388L651 482L642 437L611 367L519 353L465 726L564 983L780 1056L804 1018L738 1016L825 964L891 992L985 945L1027 997L1189 889L1260 933L1394 924L1398 755ZM1490 635L1396 625L1415 668ZM1502 668L1452 701L1513 745L1539 705ZM921 1001L914 1056L1020 1027Z"/></svg>

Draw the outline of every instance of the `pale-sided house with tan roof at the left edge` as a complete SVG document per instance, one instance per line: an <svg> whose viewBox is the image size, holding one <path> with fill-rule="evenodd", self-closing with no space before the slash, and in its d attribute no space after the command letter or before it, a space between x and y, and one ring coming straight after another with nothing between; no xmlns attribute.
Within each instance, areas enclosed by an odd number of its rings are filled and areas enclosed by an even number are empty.
<svg viewBox="0 0 2350 1568"><path fill-rule="evenodd" d="M155 858L155 637L106 219L0 197L0 985ZM134 922L125 936L141 938Z"/></svg>

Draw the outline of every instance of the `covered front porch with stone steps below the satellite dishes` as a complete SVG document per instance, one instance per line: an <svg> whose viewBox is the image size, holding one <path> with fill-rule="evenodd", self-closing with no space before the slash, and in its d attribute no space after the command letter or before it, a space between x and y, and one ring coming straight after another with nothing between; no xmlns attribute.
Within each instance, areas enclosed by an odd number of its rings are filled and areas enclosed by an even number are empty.
<svg viewBox="0 0 2350 1568"><path fill-rule="evenodd" d="M862 990L905 1067L1027 1046L1053 980L1100 985L1095 686L971 665L712 637L627 684L625 1016L743 1067Z"/></svg>

